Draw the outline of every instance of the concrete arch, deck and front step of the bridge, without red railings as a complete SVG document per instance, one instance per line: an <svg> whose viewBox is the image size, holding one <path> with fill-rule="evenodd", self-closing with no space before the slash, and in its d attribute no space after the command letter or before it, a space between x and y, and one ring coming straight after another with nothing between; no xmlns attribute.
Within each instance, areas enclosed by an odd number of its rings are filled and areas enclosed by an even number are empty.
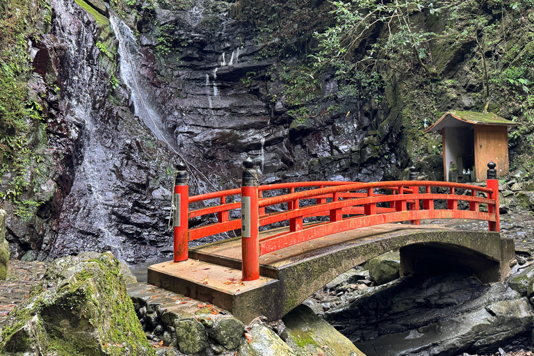
<svg viewBox="0 0 534 356"><path fill-rule="evenodd" d="M261 278L243 286L223 282L229 269L241 273L241 238L218 241L189 250L191 270L172 261L153 265L148 280L165 289L213 302L245 323L264 315L282 318L302 301L341 273L385 252L401 251L401 273L411 273L418 263L455 264L476 273L481 282L499 282L510 271L514 242L498 232L466 231L432 225L383 224L362 227L299 243L260 257ZM197 266L199 263L206 264ZM193 266L194 265L194 266ZM175 267L176 266L176 267ZM180 267L182 268L182 267ZM220 282L196 282L187 275L215 270ZM210 277L211 278L211 277Z"/></svg>

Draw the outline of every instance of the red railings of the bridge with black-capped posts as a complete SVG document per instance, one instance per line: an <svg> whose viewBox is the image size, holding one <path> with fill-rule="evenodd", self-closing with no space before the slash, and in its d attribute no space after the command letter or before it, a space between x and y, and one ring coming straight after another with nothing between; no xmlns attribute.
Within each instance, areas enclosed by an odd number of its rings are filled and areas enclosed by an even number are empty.
<svg viewBox="0 0 534 356"><path fill-rule="evenodd" d="M237 229L241 229L243 280L259 278L261 255L359 227L403 221L419 225L423 219L460 218L486 220L488 229L498 232L499 183L495 164L491 162L488 167L486 187L416 180L311 181L259 186L252 161L245 161L241 189L188 197L185 167L179 165L173 199L175 261L187 259L188 241ZM414 172L410 174L413 177ZM437 188L448 192L436 193ZM457 194L458 190L463 190L463 194ZM213 200L218 204L188 210L189 204ZM301 206L304 200L307 203ZM435 209L436 200L446 201L446 209ZM458 202L467 202L465 209L458 209ZM481 210L481 205L487 211ZM234 216L239 211L241 219L230 218L231 211L235 211ZM215 223L188 228L189 218L214 214ZM313 219L306 223L306 218ZM275 228L262 232L260 238L260 227L273 224Z"/></svg>

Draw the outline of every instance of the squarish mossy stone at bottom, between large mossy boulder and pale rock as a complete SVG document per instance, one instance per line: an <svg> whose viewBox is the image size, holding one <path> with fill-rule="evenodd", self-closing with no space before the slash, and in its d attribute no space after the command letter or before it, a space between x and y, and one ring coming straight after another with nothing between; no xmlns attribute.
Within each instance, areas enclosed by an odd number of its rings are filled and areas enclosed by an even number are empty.
<svg viewBox="0 0 534 356"><path fill-rule="evenodd" d="M195 318L175 320L176 339L181 353L200 353L208 347L208 334Z"/></svg>

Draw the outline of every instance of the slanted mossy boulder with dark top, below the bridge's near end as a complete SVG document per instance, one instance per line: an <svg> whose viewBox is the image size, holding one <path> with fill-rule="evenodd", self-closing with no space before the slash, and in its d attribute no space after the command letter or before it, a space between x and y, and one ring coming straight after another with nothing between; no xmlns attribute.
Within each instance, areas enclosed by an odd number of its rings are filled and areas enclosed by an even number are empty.
<svg viewBox="0 0 534 356"><path fill-rule="evenodd" d="M288 334L286 343L297 355L365 356L349 339L305 305L293 309L282 321Z"/></svg>

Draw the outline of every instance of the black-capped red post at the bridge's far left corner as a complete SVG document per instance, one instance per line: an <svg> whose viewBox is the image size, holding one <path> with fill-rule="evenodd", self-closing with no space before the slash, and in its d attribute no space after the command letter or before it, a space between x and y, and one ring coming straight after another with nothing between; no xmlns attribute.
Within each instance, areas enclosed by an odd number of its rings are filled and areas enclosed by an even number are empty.
<svg viewBox="0 0 534 356"><path fill-rule="evenodd" d="M177 163L175 172L175 192L172 195L174 227L174 250L175 262L188 259L188 210L189 210L189 186L187 185L186 165Z"/></svg>

